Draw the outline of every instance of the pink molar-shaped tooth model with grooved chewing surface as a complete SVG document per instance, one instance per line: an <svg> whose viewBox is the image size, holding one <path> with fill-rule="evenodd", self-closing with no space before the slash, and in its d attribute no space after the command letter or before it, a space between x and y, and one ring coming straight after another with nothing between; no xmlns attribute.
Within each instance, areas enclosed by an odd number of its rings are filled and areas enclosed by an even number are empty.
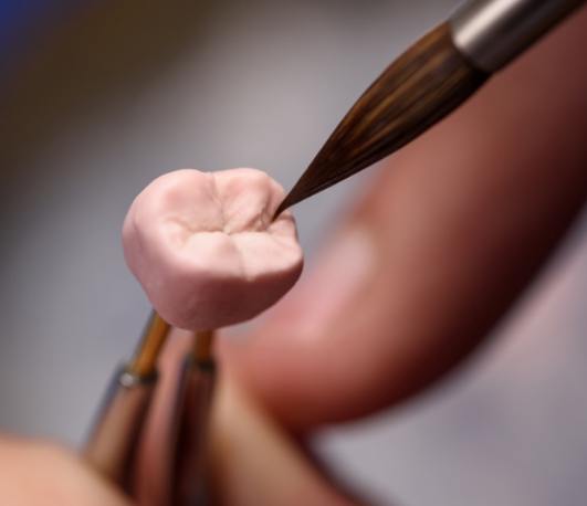
<svg viewBox="0 0 587 506"><path fill-rule="evenodd" d="M284 197L254 169L182 169L135 199L123 226L125 259L164 319L205 330L256 316L297 281L303 253Z"/></svg>

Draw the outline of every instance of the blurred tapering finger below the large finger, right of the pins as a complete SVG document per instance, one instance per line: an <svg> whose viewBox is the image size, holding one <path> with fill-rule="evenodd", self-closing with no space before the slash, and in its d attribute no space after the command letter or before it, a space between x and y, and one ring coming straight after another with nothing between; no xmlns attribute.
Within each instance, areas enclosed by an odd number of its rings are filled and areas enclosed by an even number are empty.
<svg viewBox="0 0 587 506"><path fill-rule="evenodd" d="M219 504L358 505L321 474L233 380L223 377L212 421Z"/></svg>

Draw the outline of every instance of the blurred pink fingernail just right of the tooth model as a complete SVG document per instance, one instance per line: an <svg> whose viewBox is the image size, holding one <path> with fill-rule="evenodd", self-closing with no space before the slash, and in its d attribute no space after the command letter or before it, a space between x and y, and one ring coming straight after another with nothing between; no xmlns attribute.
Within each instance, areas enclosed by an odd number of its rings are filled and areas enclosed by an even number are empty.
<svg viewBox="0 0 587 506"><path fill-rule="evenodd" d="M365 229L353 226L335 235L283 312L275 315L282 325L284 317L291 323L287 334L301 338L324 335L367 286L375 272L375 253L373 236Z"/></svg>

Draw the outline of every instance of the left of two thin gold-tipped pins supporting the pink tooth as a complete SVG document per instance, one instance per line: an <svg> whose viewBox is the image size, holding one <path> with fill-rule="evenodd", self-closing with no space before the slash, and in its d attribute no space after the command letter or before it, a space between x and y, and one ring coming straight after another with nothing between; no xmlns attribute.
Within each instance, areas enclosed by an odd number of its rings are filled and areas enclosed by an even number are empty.
<svg viewBox="0 0 587 506"><path fill-rule="evenodd" d="M93 468L127 492L168 333L169 325L153 312L134 357L114 375L83 451Z"/></svg>

